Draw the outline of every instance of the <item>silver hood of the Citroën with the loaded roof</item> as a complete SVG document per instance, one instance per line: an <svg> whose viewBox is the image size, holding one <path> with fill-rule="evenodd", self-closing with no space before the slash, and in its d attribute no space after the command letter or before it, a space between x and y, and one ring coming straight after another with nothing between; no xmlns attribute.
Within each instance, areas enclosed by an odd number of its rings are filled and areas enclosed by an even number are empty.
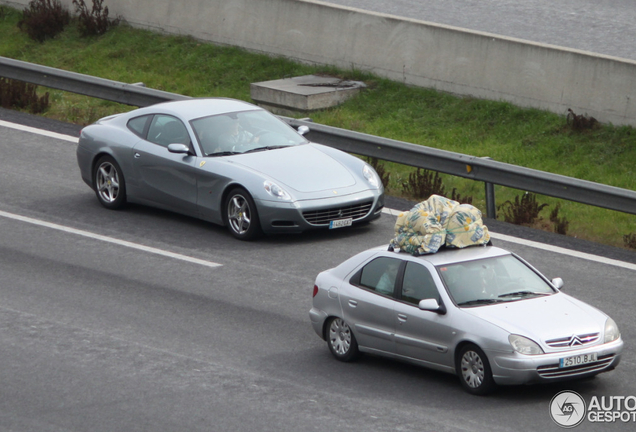
<svg viewBox="0 0 636 432"><path fill-rule="evenodd" d="M605 315L564 293L464 309L502 329L543 344L589 333L602 337Z"/></svg>

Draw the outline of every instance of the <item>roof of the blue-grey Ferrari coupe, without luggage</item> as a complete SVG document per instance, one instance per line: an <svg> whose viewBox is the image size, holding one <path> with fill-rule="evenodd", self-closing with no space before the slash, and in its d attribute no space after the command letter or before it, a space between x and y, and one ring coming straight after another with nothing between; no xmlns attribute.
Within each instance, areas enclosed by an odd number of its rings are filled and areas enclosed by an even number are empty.
<svg viewBox="0 0 636 432"><path fill-rule="evenodd" d="M262 110L261 107L230 98L192 98L178 101L161 102L135 111L134 115L162 112L173 114L190 121L210 115L227 112Z"/></svg>

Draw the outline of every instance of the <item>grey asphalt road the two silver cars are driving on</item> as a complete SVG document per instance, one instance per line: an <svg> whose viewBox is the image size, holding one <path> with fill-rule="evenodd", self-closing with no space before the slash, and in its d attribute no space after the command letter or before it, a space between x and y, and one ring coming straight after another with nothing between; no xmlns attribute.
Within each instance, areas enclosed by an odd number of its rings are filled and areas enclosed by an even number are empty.
<svg viewBox="0 0 636 432"><path fill-rule="evenodd" d="M548 405L561 390L636 395L631 264L562 253L557 237L496 240L613 316L626 349L592 380L474 397L452 375L337 362L311 329L316 274L387 243L392 216L245 243L168 212L104 209L73 142L0 124L0 155L0 430L560 430ZM599 429L633 423L577 428Z"/></svg>

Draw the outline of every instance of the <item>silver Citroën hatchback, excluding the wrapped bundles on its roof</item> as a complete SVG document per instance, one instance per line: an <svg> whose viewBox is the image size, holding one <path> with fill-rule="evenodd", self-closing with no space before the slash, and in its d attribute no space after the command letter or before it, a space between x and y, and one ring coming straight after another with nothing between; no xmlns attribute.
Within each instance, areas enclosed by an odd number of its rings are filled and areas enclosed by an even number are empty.
<svg viewBox="0 0 636 432"><path fill-rule="evenodd" d="M616 323L562 286L494 246L419 257L378 247L320 273L309 316L338 360L392 357L456 374L469 393L486 394L618 365Z"/></svg>

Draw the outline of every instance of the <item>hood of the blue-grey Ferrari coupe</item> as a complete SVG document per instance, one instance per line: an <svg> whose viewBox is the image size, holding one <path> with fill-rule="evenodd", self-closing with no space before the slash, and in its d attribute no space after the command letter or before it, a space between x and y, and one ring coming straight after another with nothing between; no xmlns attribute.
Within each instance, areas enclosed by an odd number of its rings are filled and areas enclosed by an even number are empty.
<svg viewBox="0 0 636 432"><path fill-rule="evenodd" d="M356 184L346 166L312 144L248 153L233 158L233 162L302 193Z"/></svg>

